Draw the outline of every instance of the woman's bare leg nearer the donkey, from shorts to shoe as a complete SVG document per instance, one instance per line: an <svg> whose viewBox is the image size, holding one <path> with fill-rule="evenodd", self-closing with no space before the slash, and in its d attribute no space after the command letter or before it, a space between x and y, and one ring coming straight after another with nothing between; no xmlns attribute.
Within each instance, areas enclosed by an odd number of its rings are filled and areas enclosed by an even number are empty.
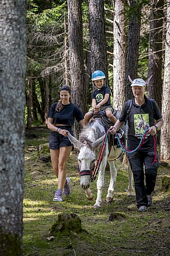
<svg viewBox="0 0 170 256"><path fill-rule="evenodd" d="M66 182L66 162L69 159L72 146L69 147L60 147L59 153L59 175L58 175L58 188L64 189Z"/></svg>

